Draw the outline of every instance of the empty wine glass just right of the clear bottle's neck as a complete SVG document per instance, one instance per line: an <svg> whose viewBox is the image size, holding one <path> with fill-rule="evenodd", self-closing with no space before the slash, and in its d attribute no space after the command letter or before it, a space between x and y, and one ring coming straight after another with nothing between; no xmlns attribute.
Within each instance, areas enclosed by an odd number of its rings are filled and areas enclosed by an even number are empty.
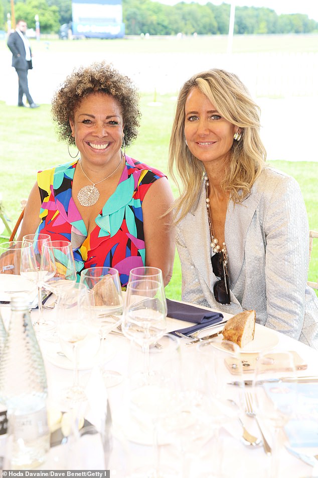
<svg viewBox="0 0 318 478"><path fill-rule="evenodd" d="M96 329L90 320L90 292L84 284L74 283L72 288L59 290L56 304L57 335L62 352L73 361L73 384L66 391L66 398L72 401L86 400L86 394L79 385L78 361L88 353L96 353ZM99 339L98 346L99 346ZM97 347L98 349L98 347Z"/></svg>

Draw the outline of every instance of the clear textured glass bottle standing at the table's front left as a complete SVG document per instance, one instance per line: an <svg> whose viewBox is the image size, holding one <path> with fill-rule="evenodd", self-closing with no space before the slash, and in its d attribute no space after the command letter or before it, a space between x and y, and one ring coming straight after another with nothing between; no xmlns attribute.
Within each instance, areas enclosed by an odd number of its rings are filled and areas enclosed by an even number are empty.
<svg viewBox="0 0 318 478"><path fill-rule="evenodd" d="M7 466L33 469L50 448L47 380L26 298L12 298L11 310L0 362L0 403L8 410Z"/></svg>

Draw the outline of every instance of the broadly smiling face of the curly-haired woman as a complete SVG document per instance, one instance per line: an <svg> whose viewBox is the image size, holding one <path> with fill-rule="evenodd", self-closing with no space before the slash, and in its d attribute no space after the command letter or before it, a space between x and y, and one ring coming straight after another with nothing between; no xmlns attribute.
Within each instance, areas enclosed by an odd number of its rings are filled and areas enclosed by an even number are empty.
<svg viewBox="0 0 318 478"><path fill-rule="evenodd" d="M101 166L118 163L123 120L120 106L112 96L93 93L84 98L70 125L83 163Z"/></svg>

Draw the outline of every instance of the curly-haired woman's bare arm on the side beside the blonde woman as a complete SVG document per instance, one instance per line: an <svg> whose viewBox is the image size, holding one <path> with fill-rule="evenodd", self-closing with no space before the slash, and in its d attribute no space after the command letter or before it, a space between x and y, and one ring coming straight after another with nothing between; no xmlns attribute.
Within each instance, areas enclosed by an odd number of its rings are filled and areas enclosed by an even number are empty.
<svg viewBox="0 0 318 478"><path fill-rule="evenodd" d="M173 214L165 215L173 201L168 179L162 177L151 184L142 202L146 266L162 269L165 285L172 277L175 258Z"/></svg>

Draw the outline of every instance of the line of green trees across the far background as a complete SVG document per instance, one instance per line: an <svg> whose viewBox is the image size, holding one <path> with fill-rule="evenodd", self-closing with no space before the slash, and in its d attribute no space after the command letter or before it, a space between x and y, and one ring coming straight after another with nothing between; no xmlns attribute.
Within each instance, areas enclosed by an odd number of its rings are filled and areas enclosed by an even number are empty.
<svg viewBox="0 0 318 478"><path fill-rule="evenodd" d="M88 0L89 2L89 0ZM230 5L178 3L163 5L151 0L122 0L126 35L226 35L229 31ZM10 0L0 3L0 29L6 30ZM35 28L39 15L42 33L57 33L60 25L72 21L71 0L15 0L16 19ZM318 32L318 22L307 15L277 15L269 8L236 7L234 34L286 34Z"/></svg>

